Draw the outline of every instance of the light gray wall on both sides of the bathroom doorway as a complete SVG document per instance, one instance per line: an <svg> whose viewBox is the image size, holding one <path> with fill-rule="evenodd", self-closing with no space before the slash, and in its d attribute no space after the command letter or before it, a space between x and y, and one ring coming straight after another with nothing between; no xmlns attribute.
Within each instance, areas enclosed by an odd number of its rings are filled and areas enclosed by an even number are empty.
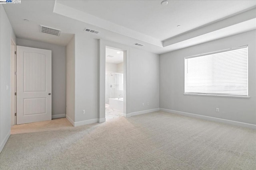
<svg viewBox="0 0 256 170"><path fill-rule="evenodd" d="M99 42L75 36L75 121L99 118ZM130 51L131 112L159 108L159 55L127 47ZM105 70L104 70L105 72ZM104 86L105 88L105 86ZM104 94L105 96L105 94ZM146 103L149 102L149 106ZM142 103L145 106L142 106ZM86 114L82 114L85 109Z"/></svg>

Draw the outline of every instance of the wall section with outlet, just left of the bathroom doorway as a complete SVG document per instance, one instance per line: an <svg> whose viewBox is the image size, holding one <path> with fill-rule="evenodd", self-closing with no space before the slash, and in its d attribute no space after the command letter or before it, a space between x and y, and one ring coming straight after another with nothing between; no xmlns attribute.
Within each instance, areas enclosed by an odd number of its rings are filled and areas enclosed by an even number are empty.
<svg viewBox="0 0 256 170"><path fill-rule="evenodd" d="M98 40L76 34L75 121L98 121ZM104 94L105 95L105 94ZM85 114L82 114L85 110Z"/></svg>

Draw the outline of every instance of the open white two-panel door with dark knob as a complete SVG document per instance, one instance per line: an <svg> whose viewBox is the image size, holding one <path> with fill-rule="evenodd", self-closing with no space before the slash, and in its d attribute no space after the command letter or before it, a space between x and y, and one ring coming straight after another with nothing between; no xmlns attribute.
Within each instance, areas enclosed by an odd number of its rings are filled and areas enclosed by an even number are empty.
<svg viewBox="0 0 256 170"><path fill-rule="evenodd" d="M17 46L17 125L52 119L52 51Z"/></svg>

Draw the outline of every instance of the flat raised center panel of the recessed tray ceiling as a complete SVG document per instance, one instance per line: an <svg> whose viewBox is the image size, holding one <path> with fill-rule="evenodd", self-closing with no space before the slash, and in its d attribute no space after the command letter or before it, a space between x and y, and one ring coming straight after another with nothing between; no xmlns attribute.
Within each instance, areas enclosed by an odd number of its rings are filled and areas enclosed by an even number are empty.
<svg viewBox="0 0 256 170"><path fill-rule="evenodd" d="M253 0L169 0L166 6L159 0L57 2L161 41L256 4Z"/></svg>

